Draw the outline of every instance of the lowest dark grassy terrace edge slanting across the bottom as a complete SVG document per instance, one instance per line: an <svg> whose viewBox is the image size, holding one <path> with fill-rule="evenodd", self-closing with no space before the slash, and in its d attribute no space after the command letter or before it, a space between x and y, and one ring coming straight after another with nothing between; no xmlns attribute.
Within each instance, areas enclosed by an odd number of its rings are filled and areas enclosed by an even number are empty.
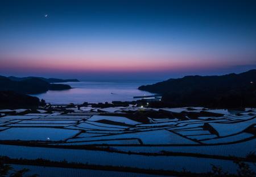
<svg viewBox="0 0 256 177"><path fill-rule="evenodd" d="M88 170L104 170L104 171L118 171L118 172L134 172L139 174L151 174L151 175L164 175L164 176L216 176L216 172L221 169L221 167L216 167L212 165L212 172L206 173L196 173L190 172L185 169L183 171L174 171L174 170L154 170L154 169L146 169L146 168L135 168L135 167L125 167L125 166L103 166L103 165L93 165L93 164L84 164L84 163L68 163L67 161L57 162L57 161L49 161L46 159L13 159L6 156L0 156L0 160L3 163L9 165L31 165L31 166L44 166L44 167L61 167L61 168L77 168L77 169L88 169ZM246 163L240 161L234 161L238 165L238 167L242 168L247 167L246 174L255 175L253 171L251 171L250 167L247 166ZM219 176L222 176L221 174ZM237 176L234 174L226 174L225 176Z"/></svg>

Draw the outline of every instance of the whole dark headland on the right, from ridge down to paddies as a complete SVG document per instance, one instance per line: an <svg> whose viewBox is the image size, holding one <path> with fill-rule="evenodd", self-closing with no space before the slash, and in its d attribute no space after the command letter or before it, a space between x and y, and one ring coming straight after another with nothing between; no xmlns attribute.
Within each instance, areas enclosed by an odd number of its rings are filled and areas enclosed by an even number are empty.
<svg viewBox="0 0 256 177"><path fill-rule="evenodd" d="M221 76L186 76L168 79L139 90L162 94L155 106L255 107L256 70Z"/></svg>

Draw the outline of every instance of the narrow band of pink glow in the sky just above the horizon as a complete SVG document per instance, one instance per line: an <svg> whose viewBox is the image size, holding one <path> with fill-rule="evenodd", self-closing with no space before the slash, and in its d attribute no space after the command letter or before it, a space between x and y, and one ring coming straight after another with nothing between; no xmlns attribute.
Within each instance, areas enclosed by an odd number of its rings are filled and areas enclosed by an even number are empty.
<svg viewBox="0 0 256 177"><path fill-rule="evenodd" d="M239 65L241 62L234 61L233 65ZM223 68L230 66L230 62L222 60L200 60L200 59L183 59L167 60L166 58L150 58L142 60L141 58L93 58L92 60L70 60L66 59L42 59L40 60L8 60L0 61L0 69L10 69L16 71L57 71L57 72L134 72L134 71L178 71L186 69L210 69Z"/></svg>

